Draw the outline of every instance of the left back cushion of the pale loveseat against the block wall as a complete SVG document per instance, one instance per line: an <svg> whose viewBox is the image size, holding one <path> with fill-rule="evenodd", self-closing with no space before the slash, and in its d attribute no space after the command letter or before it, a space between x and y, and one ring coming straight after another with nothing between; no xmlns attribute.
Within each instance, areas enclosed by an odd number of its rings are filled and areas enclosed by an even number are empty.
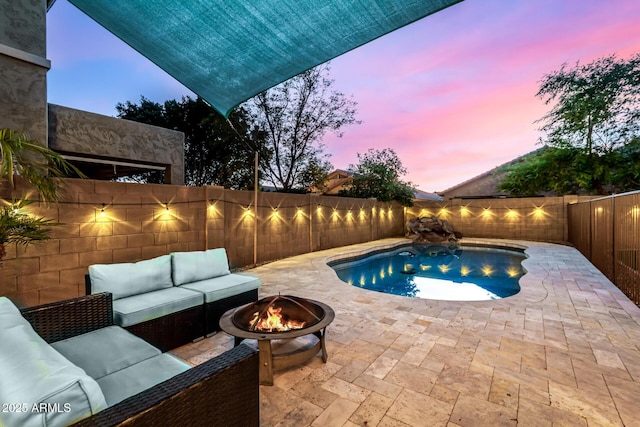
<svg viewBox="0 0 640 427"><path fill-rule="evenodd" d="M91 293L111 292L113 299L157 291L173 286L171 256L120 264L89 266Z"/></svg>

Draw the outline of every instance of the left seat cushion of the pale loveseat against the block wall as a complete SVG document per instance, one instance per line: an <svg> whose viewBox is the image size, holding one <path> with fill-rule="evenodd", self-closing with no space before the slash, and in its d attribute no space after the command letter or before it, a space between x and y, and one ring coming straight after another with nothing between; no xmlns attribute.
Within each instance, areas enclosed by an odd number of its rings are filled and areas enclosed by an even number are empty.
<svg viewBox="0 0 640 427"><path fill-rule="evenodd" d="M177 313L202 303L201 294L189 289L171 287L115 300L113 318L116 324L127 327Z"/></svg>

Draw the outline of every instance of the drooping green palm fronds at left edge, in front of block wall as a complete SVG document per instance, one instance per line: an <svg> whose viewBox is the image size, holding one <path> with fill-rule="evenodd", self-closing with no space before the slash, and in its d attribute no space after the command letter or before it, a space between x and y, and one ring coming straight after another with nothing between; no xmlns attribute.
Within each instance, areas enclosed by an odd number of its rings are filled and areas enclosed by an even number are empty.
<svg viewBox="0 0 640 427"><path fill-rule="evenodd" d="M58 153L31 140L25 133L0 129L0 180L7 179L15 189L15 175L20 175L38 192L45 203L59 197L59 182L54 178L83 174ZM20 212L30 202L22 197L12 206L0 208L0 266L7 243L28 245L50 239L51 229L59 225L44 217Z"/></svg>

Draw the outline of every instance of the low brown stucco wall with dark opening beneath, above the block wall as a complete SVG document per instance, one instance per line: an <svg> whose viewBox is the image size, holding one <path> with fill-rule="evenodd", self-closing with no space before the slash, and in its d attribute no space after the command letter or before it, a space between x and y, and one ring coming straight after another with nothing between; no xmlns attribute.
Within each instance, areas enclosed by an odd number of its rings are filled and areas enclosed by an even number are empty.
<svg viewBox="0 0 640 427"><path fill-rule="evenodd" d="M168 166L184 184L184 134L130 120L49 104L49 146L57 151Z"/></svg>

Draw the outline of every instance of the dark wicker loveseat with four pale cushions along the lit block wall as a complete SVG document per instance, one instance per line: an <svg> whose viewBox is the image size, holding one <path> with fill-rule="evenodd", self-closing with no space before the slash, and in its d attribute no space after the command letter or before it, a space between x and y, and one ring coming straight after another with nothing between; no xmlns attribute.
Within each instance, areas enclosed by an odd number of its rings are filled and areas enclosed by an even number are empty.
<svg viewBox="0 0 640 427"><path fill-rule="evenodd" d="M224 248L95 264L87 294L113 294L115 323L162 351L220 330L225 311L258 299L260 279L231 273Z"/></svg>

